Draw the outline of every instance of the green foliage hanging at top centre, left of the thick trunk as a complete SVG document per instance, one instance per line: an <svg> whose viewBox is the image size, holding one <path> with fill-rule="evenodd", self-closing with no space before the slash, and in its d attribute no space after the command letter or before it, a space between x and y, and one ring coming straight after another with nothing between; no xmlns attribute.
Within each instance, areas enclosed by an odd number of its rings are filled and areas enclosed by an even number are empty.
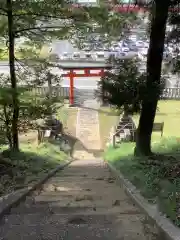
<svg viewBox="0 0 180 240"><path fill-rule="evenodd" d="M120 40L125 32L136 24L138 21L138 16L136 13L132 12L113 12L108 9L104 4L100 4L99 7L86 7L88 11L90 20L87 22L86 26L81 26L81 28L76 28L75 40L77 45L79 41L84 41L86 38L92 34L98 34L101 40L105 40L110 43L114 40ZM82 39L79 36L83 36ZM90 40L91 42L91 40ZM80 43L82 45L82 43Z"/></svg>

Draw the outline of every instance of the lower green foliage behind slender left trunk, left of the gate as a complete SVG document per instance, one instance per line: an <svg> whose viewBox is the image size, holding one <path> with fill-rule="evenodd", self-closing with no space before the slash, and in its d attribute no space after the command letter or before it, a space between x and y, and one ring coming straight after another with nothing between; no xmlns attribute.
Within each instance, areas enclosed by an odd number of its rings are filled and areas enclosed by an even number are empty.
<svg viewBox="0 0 180 240"><path fill-rule="evenodd" d="M60 82L60 77L50 73L47 69L46 64L34 66L33 68L25 69L21 74L17 75L18 82L25 83L25 86L17 87L18 100L19 100L19 121L18 121L18 132L26 132L29 128L34 129L37 126L38 119L44 119L49 114L56 113L57 102L61 102L58 96L47 96L38 93L36 89L44 85L51 75L51 82ZM28 76L31 78L28 78ZM26 81L24 82L24 79ZM35 88L34 88L35 86ZM50 99L49 99L50 98ZM8 140L9 147L12 148L13 136L12 136L12 118L13 114L11 111L12 105L12 88L9 84L9 77L1 75L0 81L0 124L1 130L5 129L5 136Z"/></svg>

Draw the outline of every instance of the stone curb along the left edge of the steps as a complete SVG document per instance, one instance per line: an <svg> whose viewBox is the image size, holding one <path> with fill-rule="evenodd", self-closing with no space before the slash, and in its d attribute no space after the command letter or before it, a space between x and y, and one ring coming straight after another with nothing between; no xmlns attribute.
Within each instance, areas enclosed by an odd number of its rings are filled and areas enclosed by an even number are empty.
<svg viewBox="0 0 180 240"><path fill-rule="evenodd" d="M39 181L34 183L31 187L23 188L1 197L0 198L0 219L2 219L5 214L9 213L11 211L11 208L18 206L20 202L25 200L25 198L28 195L30 195L36 189L40 188L41 185L43 185L49 178L54 176L59 170L63 170L66 166L71 164L73 161L75 160L70 159L68 162L57 166L52 171L50 171L46 176L44 176Z"/></svg>

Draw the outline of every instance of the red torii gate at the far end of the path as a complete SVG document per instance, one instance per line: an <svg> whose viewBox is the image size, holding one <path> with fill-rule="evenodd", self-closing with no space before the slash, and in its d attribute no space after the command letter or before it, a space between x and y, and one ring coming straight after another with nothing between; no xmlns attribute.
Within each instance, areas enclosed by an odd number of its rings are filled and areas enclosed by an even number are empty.
<svg viewBox="0 0 180 240"><path fill-rule="evenodd" d="M108 69L108 66L102 67L64 67L63 70L67 73L63 73L62 77L68 77L70 80L69 84L69 103L70 105L74 104L74 78L75 77L102 77L104 76L105 69ZM84 73L76 73L75 71L84 71ZM96 71L96 72L91 72ZM97 72L98 71L98 72Z"/></svg>

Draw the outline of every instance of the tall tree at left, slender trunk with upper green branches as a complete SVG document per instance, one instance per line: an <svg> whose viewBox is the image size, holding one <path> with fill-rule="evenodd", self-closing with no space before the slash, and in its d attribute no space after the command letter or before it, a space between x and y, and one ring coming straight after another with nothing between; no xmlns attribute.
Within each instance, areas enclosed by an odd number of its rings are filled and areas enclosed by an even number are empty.
<svg viewBox="0 0 180 240"><path fill-rule="evenodd" d="M62 5L63 4L63 5ZM41 46L52 37L62 37L75 23L84 21L88 15L83 9L70 8L58 0L6 0L0 1L0 31L9 52L10 82L12 88L12 148L19 149L18 117L19 99L15 68L15 40L24 37L31 45ZM51 23L51 24L49 24Z"/></svg>

